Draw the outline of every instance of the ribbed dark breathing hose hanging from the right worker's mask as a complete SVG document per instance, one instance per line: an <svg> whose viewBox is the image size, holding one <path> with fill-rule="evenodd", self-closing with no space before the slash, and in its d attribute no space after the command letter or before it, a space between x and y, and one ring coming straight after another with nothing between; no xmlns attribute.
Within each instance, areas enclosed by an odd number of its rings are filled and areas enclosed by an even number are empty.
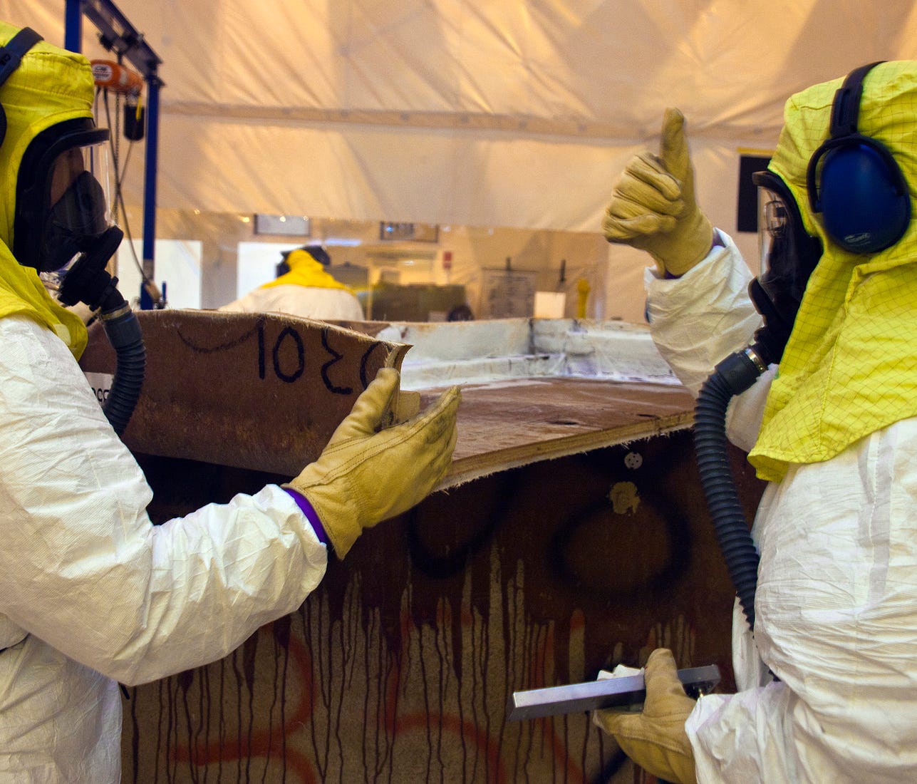
<svg viewBox="0 0 917 784"><path fill-rule="evenodd" d="M724 359L704 381L694 408L694 448L713 530L742 604L748 626L755 628L757 547L735 489L726 450L726 408L767 370L759 344Z"/></svg>

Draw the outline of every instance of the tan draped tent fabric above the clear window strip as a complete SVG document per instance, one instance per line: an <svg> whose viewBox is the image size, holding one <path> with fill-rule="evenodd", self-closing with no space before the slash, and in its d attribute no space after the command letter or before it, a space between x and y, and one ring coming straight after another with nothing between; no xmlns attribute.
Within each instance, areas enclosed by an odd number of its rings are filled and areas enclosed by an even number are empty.
<svg viewBox="0 0 917 784"><path fill-rule="evenodd" d="M737 150L772 149L790 93L917 57L903 0L116 6L163 61L160 206L241 214L597 231L678 105L728 229ZM0 0L0 17L63 41L63 0ZM83 50L104 56L94 32Z"/></svg>

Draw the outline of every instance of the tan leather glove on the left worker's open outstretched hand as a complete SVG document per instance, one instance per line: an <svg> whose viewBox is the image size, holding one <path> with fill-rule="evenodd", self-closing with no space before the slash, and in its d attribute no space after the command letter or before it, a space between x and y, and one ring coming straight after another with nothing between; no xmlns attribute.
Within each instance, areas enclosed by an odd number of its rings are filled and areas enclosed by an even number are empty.
<svg viewBox="0 0 917 784"><path fill-rule="evenodd" d="M451 465L458 387L407 422L377 432L399 377L392 368L380 370L322 454L288 485L312 504L338 558L364 528L423 501Z"/></svg>

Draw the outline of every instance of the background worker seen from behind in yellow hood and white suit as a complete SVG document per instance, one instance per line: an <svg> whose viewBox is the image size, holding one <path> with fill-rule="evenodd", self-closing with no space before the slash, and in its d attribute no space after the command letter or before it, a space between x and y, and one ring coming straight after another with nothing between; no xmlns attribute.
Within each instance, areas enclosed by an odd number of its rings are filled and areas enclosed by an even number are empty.
<svg viewBox="0 0 917 784"><path fill-rule="evenodd" d="M363 321L357 295L326 271L331 258L321 245L306 245L283 255L281 274L220 310L286 313L320 321Z"/></svg>

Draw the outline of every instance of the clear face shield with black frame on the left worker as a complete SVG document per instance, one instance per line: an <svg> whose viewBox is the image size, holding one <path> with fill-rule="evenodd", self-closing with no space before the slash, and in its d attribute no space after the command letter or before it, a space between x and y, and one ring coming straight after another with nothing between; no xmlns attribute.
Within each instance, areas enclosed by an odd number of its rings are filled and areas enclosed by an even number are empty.
<svg viewBox="0 0 917 784"><path fill-rule="evenodd" d="M17 181L14 254L60 276L115 228L108 208L113 170L108 130L71 120L36 137Z"/></svg>

